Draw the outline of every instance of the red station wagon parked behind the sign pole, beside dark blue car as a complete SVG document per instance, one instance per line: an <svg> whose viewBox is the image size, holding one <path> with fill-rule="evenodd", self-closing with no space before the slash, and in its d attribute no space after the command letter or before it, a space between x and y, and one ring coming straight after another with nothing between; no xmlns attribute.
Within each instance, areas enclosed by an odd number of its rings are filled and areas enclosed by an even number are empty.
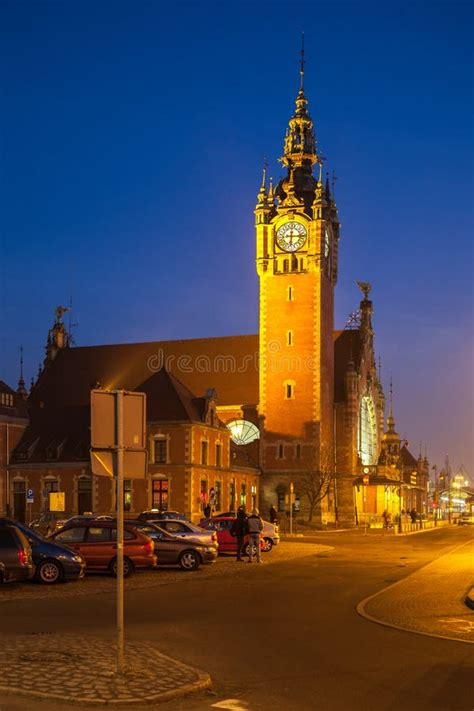
<svg viewBox="0 0 474 711"><path fill-rule="evenodd" d="M153 568L156 555L153 541L130 525L124 526L123 573L128 576L138 568ZM51 536L79 553L89 570L108 570L117 574L117 524L114 521L88 520L67 524Z"/></svg>

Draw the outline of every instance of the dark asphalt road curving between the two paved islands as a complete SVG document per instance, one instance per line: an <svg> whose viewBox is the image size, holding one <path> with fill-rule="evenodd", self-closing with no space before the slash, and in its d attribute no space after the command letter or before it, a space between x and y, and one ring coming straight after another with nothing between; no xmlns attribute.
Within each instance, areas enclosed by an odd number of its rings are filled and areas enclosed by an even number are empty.
<svg viewBox="0 0 474 711"><path fill-rule="evenodd" d="M226 574L216 566L212 575L187 576L186 584L130 591L127 632L210 672L213 695L163 707L173 711L472 711L472 646L383 627L356 612L362 599L471 535L460 528L406 538L315 537L332 552L287 543L294 555L278 564L235 563ZM113 635L110 593L27 606L19 600L4 603L0 615L7 636L61 630ZM234 701L225 703L229 699ZM31 703L6 698L0 708L17 711Z"/></svg>

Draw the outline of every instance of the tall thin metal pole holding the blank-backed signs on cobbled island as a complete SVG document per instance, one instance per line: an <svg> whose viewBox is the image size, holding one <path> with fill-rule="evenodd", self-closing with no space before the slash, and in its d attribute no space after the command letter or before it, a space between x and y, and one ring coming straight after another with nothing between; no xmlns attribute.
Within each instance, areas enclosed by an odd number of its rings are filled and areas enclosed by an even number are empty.
<svg viewBox="0 0 474 711"><path fill-rule="evenodd" d="M124 671L123 621L123 390L115 393L115 422L117 427L117 674Z"/></svg>

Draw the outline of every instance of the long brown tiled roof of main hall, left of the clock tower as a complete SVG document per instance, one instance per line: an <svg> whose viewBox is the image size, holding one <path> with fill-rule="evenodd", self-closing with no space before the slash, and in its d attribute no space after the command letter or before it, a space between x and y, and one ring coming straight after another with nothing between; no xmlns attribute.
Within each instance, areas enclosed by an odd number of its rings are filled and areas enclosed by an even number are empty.
<svg viewBox="0 0 474 711"><path fill-rule="evenodd" d="M44 370L32 400L44 406L86 405L97 383L136 390L164 365L195 395L214 388L219 405L256 404L256 355L257 335L66 348Z"/></svg>

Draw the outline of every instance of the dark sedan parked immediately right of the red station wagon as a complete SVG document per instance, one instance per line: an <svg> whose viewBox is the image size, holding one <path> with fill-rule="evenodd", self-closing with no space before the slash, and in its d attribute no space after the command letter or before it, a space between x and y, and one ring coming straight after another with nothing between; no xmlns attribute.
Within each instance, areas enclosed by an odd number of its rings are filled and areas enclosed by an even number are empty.
<svg viewBox="0 0 474 711"><path fill-rule="evenodd" d="M153 540L158 565L179 565L182 570L197 570L201 564L215 563L217 544L203 543L197 538L182 540L151 521L129 521L128 525L146 533Z"/></svg>

